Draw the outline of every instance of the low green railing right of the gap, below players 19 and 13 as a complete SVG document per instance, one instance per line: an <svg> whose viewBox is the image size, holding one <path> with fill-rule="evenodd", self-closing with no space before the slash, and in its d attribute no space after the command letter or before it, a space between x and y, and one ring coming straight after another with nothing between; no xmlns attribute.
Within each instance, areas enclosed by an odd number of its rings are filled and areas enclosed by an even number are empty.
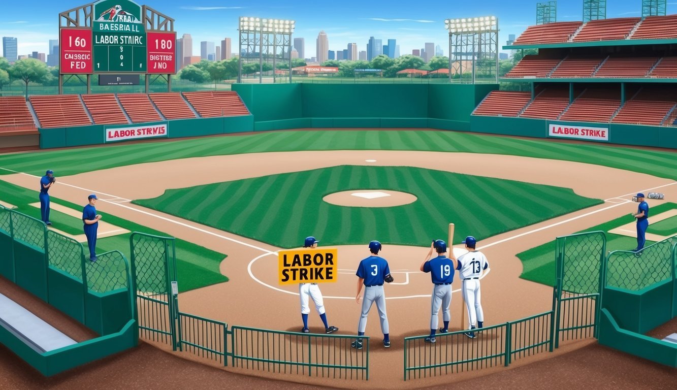
<svg viewBox="0 0 677 390"><path fill-rule="evenodd" d="M508 366L513 360L552 351L552 311L521 320L475 329L404 339L404 380Z"/></svg>

